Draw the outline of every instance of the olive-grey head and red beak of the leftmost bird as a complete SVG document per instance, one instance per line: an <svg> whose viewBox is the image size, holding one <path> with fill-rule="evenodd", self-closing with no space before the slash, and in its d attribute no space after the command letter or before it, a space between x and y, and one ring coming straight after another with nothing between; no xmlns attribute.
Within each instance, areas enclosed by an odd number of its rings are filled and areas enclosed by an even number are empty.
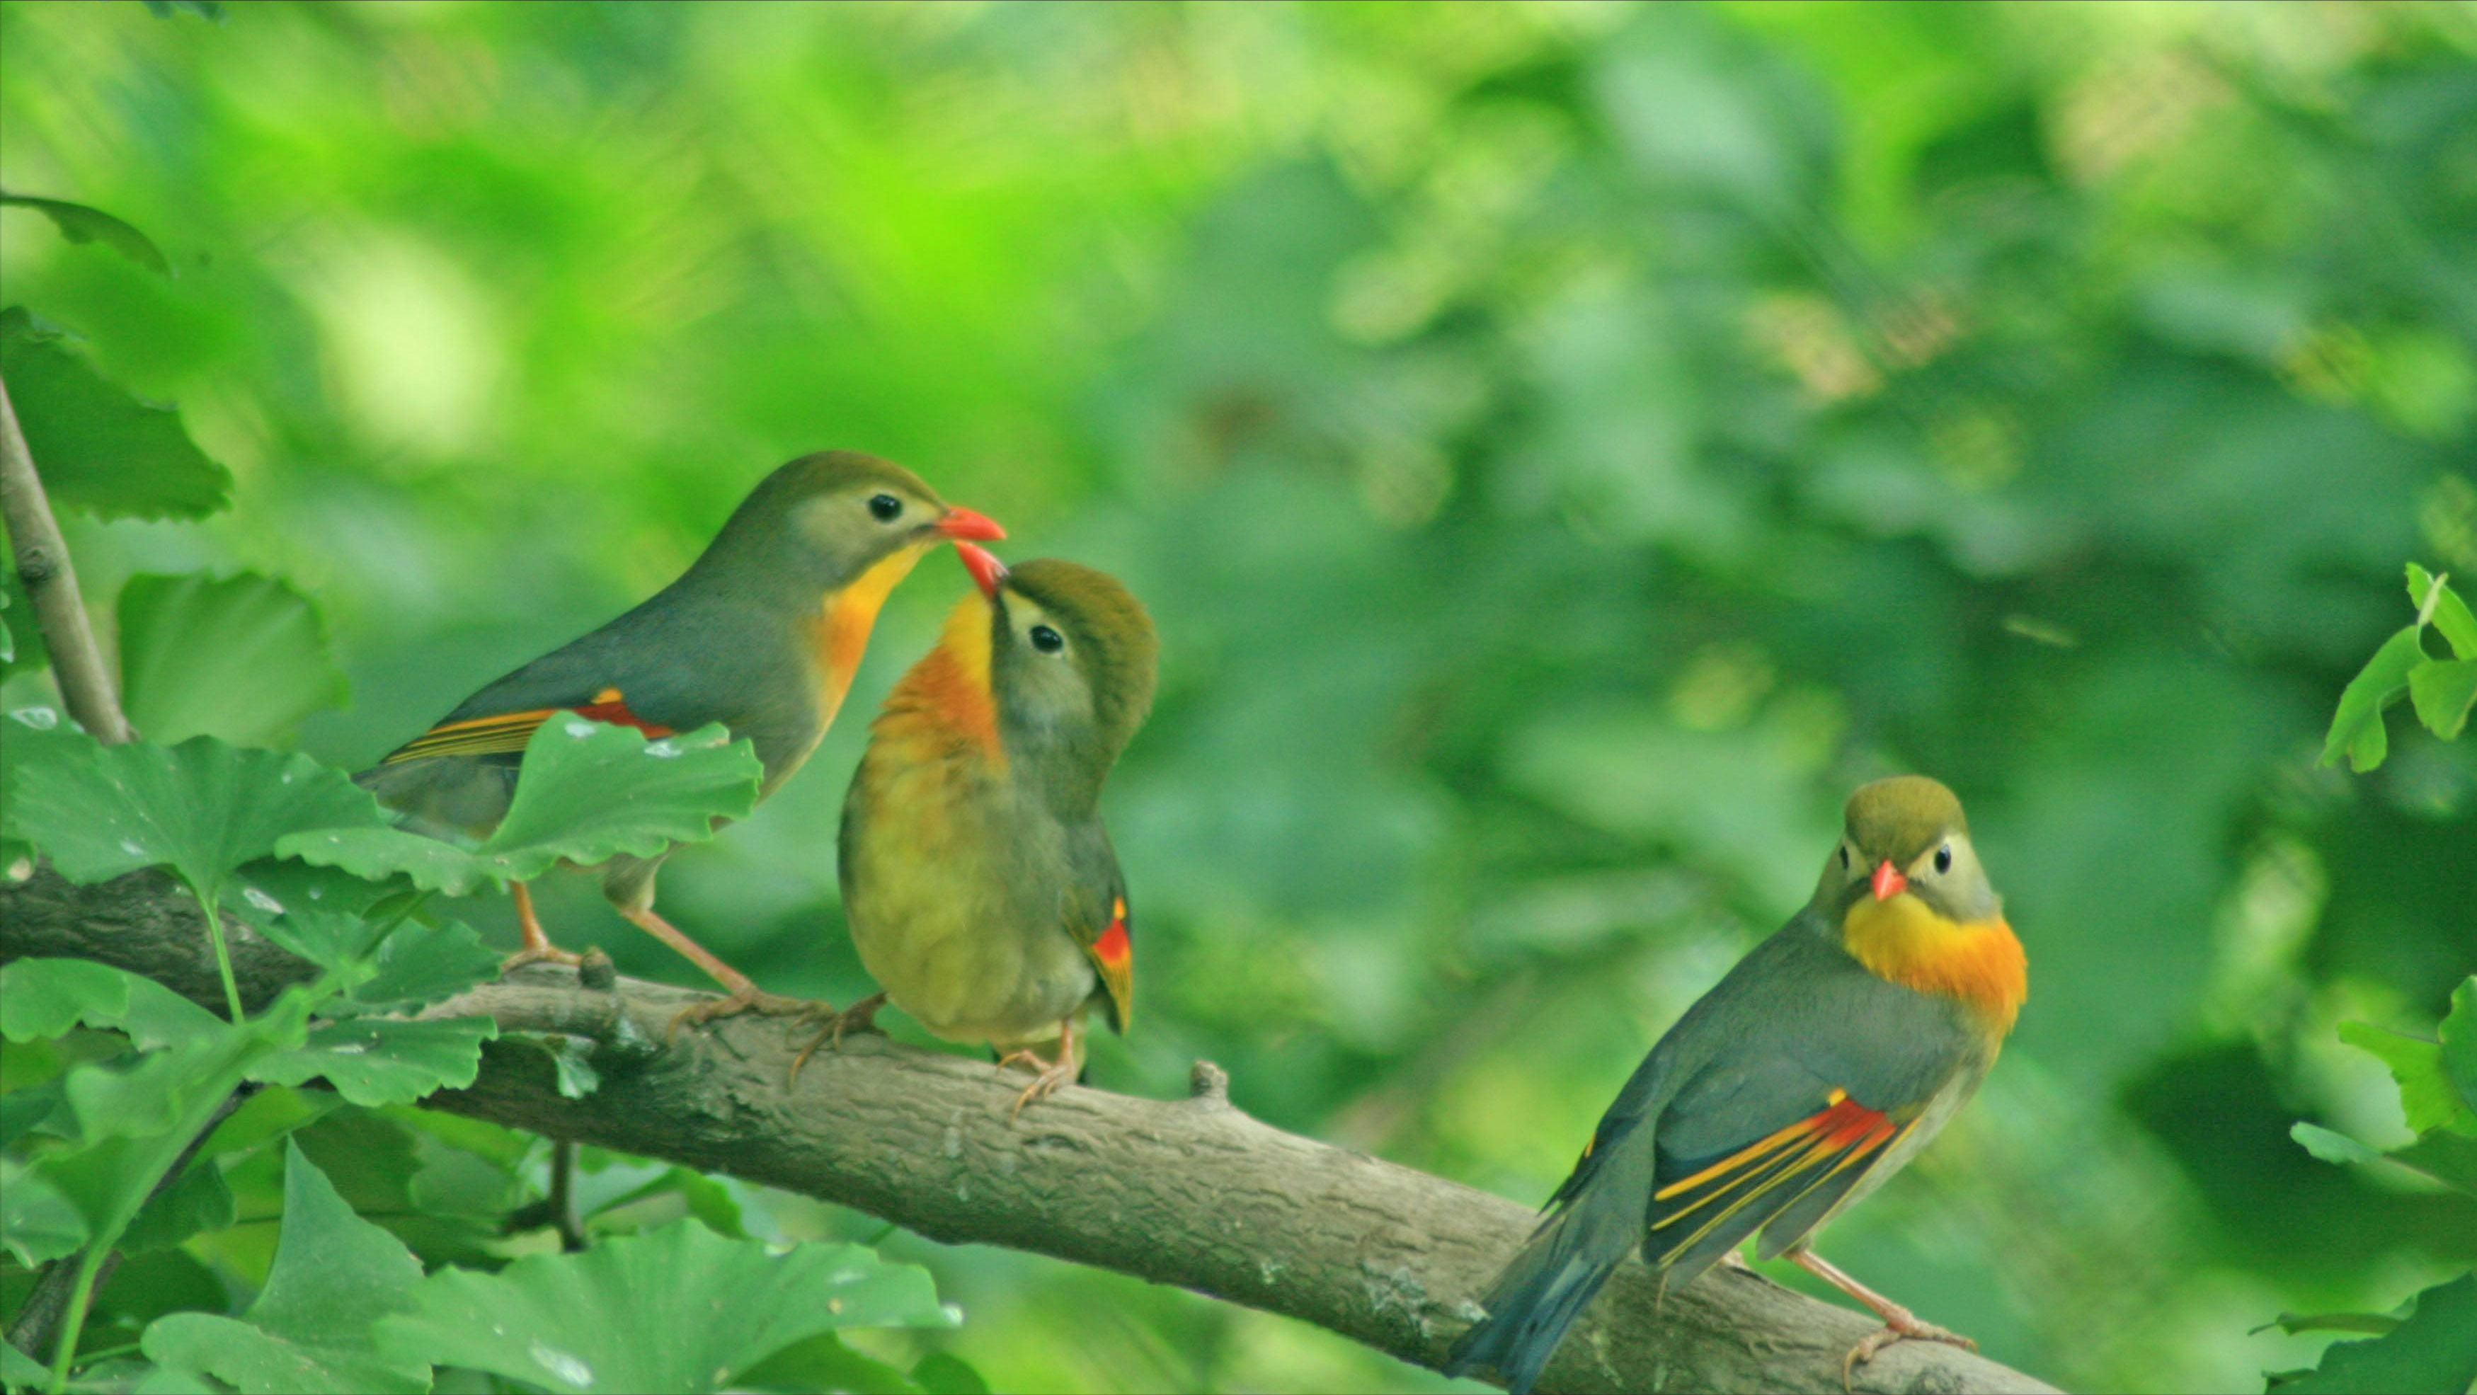
<svg viewBox="0 0 2477 1395"><path fill-rule="evenodd" d="M1003 535L894 461L817 451L765 476L699 558L699 570L748 592L780 590L815 602L897 553L919 558L934 543Z"/></svg>

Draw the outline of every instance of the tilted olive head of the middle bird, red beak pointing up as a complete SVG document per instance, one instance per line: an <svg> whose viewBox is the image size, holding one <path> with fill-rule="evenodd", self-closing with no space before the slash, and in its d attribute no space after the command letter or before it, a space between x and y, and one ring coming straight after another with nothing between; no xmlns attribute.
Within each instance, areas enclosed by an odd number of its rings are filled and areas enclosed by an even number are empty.
<svg viewBox="0 0 2477 1395"><path fill-rule="evenodd" d="M998 567L991 582L988 686L1006 748L1055 751L1068 783L1100 798L1100 778L1152 711L1162 652L1152 617L1117 577L1055 558Z"/></svg>

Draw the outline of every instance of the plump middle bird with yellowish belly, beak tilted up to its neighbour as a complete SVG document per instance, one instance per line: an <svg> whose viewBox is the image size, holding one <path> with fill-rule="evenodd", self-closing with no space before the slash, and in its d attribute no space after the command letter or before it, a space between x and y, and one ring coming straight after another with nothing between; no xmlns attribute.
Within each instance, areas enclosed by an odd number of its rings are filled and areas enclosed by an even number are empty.
<svg viewBox="0 0 2477 1395"><path fill-rule="evenodd" d="M1080 1070L1087 1006L1115 1031L1134 1011L1100 785L1152 709L1159 644L1134 595L1092 567L956 553L981 595L894 684L842 803L842 909L884 991L825 1036L894 1001L936 1036L1030 1065L1021 1110Z"/></svg>

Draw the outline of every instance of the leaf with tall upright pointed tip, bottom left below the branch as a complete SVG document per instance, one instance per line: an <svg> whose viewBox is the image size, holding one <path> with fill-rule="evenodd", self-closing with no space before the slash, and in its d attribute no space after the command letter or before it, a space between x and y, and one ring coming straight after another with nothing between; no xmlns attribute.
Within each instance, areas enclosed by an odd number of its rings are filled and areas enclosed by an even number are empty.
<svg viewBox="0 0 2477 1395"><path fill-rule="evenodd" d="M374 1350L369 1328L411 1311L419 1286L421 1261L404 1241L352 1214L300 1145L285 1142L285 1224L258 1301L240 1318L156 1318L141 1350L253 1395L414 1395L431 1385L429 1360Z"/></svg>

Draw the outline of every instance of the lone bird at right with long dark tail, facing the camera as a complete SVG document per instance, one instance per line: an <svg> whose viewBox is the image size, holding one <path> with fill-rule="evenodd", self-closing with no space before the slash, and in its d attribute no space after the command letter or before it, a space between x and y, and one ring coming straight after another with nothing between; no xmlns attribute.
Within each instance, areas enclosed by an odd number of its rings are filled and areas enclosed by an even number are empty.
<svg viewBox="0 0 2477 1395"><path fill-rule="evenodd" d="M1806 909L1687 1008L1600 1115L1449 1375L1496 1368L1528 1390L1635 1246L1672 1286L1736 1261L1756 1231L1761 1259L1788 1254L1885 1321L1843 1380L1902 1338L1974 1348L1808 1244L1977 1093L2029 971L1952 790L1875 781L1845 823Z"/></svg>

